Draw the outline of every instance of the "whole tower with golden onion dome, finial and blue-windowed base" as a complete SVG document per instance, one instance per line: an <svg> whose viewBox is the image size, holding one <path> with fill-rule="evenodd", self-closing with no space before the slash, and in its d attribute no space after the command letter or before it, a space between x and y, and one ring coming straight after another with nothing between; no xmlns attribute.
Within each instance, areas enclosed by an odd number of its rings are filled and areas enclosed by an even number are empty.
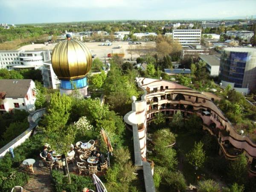
<svg viewBox="0 0 256 192"><path fill-rule="evenodd" d="M75 88L83 96L88 94L86 75L92 67L90 50L81 42L70 38L60 41L52 50L52 68L61 81L60 92L69 95Z"/></svg>

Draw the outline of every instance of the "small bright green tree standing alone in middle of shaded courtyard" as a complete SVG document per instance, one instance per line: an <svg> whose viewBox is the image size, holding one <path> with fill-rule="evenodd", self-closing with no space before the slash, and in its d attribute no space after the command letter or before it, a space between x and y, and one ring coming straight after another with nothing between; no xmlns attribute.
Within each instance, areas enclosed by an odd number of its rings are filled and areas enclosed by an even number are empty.
<svg viewBox="0 0 256 192"><path fill-rule="evenodd" d="M199 141L198 143L195 142L194 147L189 151L188 154L186 154L190 165L196 166L198 168L203 167L206 160L203 146L204 144L201 141Z"/></svg>

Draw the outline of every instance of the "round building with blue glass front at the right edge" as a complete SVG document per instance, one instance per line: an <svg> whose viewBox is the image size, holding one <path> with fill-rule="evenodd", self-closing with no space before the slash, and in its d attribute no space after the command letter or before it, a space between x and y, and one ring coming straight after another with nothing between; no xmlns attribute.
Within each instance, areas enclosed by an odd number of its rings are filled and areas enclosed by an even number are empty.
<svg viewBox="0 0 256 192"><path fill-rule="evenodd" d="M219 79L238 92L256 89L256 48L229 47L221 54Z"/></svg>

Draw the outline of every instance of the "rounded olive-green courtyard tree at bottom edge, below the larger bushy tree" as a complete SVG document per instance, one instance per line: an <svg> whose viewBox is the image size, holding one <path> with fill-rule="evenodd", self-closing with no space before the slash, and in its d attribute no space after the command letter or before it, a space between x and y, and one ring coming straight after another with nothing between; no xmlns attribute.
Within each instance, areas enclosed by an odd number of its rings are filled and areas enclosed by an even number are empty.
<svg viewBox="0 0 256 192"><path fill-rule="evenodd" d="M164 174L165 183L173 189L172 191L186 191L186 180L180 171L168 172Z"/></svg>

